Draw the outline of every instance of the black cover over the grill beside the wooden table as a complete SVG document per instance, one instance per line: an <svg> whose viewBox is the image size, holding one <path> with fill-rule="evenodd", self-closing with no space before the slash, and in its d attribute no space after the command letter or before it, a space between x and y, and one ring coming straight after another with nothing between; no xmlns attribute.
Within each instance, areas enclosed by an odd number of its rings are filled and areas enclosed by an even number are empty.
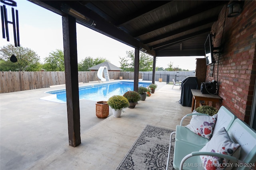
<svg viewBox="0 0 256 170"><path fill-rule="evenodd" d="M182 106L192 106L192 92L191 89L198 89L196 76L188 76L181 83L181 96L179 103Z"/></svg>

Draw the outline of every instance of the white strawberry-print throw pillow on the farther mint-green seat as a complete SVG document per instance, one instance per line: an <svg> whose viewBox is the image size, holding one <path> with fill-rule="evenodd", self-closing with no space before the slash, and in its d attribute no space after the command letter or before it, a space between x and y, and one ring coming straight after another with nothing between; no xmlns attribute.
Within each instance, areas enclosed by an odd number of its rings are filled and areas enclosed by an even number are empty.
<svg viewBox="0 0 256 170"><path fill-rule="evenodd" d="M212 131L215 125L216 118L217 114L213 116L193 115L190 123L185 127L201 137L210 139L212 137Z"/></svg>

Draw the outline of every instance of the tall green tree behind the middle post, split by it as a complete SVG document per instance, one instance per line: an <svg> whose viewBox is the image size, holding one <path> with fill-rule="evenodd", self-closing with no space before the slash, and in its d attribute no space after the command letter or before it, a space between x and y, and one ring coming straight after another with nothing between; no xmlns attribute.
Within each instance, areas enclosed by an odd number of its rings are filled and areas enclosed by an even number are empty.
<svg viewBox="0 0 256 170"><path fill-rule="evenodd" d="M126 57L119 57L124 71L134 71L134 51L126 51ZM140 51L139 71L152 71L153 57Z"/></svg>

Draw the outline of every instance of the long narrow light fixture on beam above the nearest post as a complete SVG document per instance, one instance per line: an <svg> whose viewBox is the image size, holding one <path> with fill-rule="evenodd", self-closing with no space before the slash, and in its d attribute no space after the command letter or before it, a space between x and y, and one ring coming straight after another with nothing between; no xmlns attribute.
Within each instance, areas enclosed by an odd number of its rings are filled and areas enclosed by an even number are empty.
<svg viewBox="0 0 256 170"><path fill-rule="evenodd" d="M96 26L96 23L94 22L94 20L91 20L90 18L84 16L80 12L77 12L76 10L70 8L70 6L68 6L67 4L61 4L61 10L79 20L82 20L82 21L88 23L91 26Z"/></svg>

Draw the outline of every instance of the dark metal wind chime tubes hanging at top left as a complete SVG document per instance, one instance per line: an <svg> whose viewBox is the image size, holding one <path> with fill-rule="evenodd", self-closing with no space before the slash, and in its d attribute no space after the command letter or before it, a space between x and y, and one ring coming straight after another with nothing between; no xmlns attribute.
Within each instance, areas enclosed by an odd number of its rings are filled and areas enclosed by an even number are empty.
<svg viewBox="0 0 256 170"><path fill-rule="evenodd" d="M7 39L7 41L10 41L9 37L9 29L8 29L8 23L12 24L13 26L13 35L14 35L14 45L15 47L20 47L20 33L19 33L19 20L18 20L18 10L15 10L14 12L14 6L17 6L17 3L13 0L0 0L1 3L5 5L1 5L1 20L2 20L2 35L3 38ZM7 6L12 6L12 21L8 21L7 18Z"/></svg>

